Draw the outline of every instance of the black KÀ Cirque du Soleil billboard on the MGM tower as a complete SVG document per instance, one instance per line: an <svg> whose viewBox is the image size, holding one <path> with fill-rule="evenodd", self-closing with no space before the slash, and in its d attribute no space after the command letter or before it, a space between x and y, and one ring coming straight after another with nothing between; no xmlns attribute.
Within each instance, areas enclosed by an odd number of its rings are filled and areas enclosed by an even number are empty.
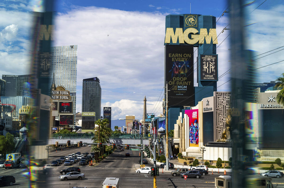
<svg viewBox="0 0 284 188"><path fill-rule="evenodd" d="M200 55L200 81L218 81L218 55Z"/></svg>

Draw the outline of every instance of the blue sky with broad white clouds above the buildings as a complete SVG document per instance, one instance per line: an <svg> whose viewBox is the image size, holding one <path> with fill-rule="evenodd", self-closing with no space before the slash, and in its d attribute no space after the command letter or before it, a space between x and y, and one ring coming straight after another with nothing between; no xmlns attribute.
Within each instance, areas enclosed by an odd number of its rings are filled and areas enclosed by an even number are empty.
<svg viewBox="0 0 284 188"><path fill-rule="evenodd" d="M204 14L216 16L218 36L218 91L230 90L229 11L227 1L55 1L54 46L78 45L77 103L81 111L82 80L98 77L102 108L112 107L112 119L147 112L162 113L164 87L165 16ZM252 1L246 1L249 3ZM246 49L259 55L284 46L284 5L280 0L255 1L247 12ZM39 6L34 6L39 5ZM206 6L204 6L206 5ZM260 6L259 6L260 5ZM259 7L258 7L259 6ZM257 8L257 9L256 9ZM255 10L254 10L255 9ZM5 0L0 3L0 74L29 74L30 11L42 11L37 1ZM250 13L251 12L251 13ZM221 17L220 17L221 16ZM219 19L220 18L220 19ZM279 48L275 51L281 50ZM273 53L275 51L271 51ZM256 56L256 68L283 60L283 51ZM195 52L194 58L197 53ZM266 57L262 57L268 55ZM283 62L257 69L256 82L270 82L283 72ZM194 69L196 68L196 64ZM225 73L225 74L224 74ZM224 76L221 76L223 75ZM196 71L194 73L195 86ZM103 111L102 111L103 112Z"/></svg>

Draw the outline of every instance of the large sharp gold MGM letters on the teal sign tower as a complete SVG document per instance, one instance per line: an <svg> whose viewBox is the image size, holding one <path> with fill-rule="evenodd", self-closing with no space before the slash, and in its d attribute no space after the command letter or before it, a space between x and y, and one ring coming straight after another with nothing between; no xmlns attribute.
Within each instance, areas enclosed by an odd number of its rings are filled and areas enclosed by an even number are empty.
<svg viewBox="0 0 284 188"><path fill-rule="evenodd" d="M195 28L187 28L184 32L182 31L182 28L176 28L176 33L174 33L174 28L167 28L165 43L170 43L171 38L173 43L177 43L179 38L180 44L183 44L184 42L188 44L195 44L198 41L199 44L204 44L204 40L206 41L206 44L210 44L212 38L213 44L218 44L216 29L210 29L208 33L206 28L201 28L200 34L195 35L197 32L198 30ZM192 39L188 38L190 33L192 33Z"/></svg>

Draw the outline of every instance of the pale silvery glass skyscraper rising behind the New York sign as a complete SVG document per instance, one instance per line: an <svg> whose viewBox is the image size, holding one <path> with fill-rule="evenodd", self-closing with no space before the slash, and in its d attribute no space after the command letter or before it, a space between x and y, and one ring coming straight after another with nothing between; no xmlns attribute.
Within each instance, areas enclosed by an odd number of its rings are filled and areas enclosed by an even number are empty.
<svg viewBox="0 0 284 188"><path fill-rule="evenodd" d="M76 114L77 47L78 45L68 45L51 48L53 60L51 78L54 73L56 87L61 85L70 91L74 117Z"/></svg>

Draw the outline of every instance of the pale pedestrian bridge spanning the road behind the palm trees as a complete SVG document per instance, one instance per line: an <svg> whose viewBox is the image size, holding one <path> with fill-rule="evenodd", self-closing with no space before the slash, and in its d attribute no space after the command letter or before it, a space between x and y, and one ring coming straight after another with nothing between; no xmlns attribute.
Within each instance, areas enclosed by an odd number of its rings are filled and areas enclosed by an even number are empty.
<svg viewBox="0 0 284 188"><path fill-rule="evenodd" d="M74 144L75 142L80 142L82 141L83 143L88 143L91 144L93 143L92 141L92 137L57 137L57 138L49 138L48 139L48 145L55 145L55 142L58 142L59 145L66 145L67 140L70 140L71 144ZM149 138L147 139L143 139L143 144L149 145L149 142L151 140L149 140ZM141 138L119 138L119 137L110 137L109 138L109 143L115 143L116 145L139 145L141 144Z"/></svg>

